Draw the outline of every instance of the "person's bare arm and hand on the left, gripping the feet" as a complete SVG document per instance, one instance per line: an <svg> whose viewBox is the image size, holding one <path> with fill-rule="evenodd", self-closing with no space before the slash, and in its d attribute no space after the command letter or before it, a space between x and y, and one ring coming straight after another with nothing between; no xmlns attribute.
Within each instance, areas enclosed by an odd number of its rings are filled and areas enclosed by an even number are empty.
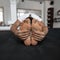
<svg viewBox="0 0 60 60"><path fill-rule="evenodd" d="M23 23L23 22L22 22ZM22 40L25 40L25 39L27 39L27 37L29 36L29 32L28 31L25 31L24 30L24 27L22 27L22 23L19 21L19 20L17 20L13 25L12 25L12 27L11 27L11 31L15 34L15 35L17 35L19 38L21 38ZM22 27L23 28L23 30L18 30L17 28L20 26L20 28Z"/></svg>

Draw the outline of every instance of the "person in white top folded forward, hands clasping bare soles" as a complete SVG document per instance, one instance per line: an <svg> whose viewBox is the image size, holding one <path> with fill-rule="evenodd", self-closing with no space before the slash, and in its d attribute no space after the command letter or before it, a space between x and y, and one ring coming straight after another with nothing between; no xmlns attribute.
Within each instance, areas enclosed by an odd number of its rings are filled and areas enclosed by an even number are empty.
<svg viewBox="0 0 60 60"><path fill-rule="evenodd" d="M48 27L38 15L27 13L17 19L11 31L21 38L26 46L30 46L43 40L48 33Z"/></svg>

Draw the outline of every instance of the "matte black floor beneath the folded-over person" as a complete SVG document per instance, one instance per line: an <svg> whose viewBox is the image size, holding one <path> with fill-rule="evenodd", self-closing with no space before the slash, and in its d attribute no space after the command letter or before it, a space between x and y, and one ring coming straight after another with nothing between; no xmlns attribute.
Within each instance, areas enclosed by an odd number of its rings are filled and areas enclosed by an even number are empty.
<svg viewBox="0 0 60 60"><path fill-rule="evenodd" d="M60 60L60 29L49 29L36 46L25 46L10 31L0 31L0 60Z"/></svg>

